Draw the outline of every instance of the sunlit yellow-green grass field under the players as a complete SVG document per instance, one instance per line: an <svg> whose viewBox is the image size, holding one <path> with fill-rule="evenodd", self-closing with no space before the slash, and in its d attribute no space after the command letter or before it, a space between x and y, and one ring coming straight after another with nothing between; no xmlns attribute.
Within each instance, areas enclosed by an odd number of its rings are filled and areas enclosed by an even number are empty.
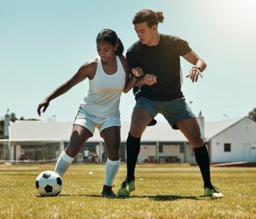
<svg viewBox="0 0 256 219"><path fill-rule="evenodd" d="M73 165L60 195L42 198L35 179L54 165L0 165L0 218L256 218L255 167L212 167L212 183L225 195L221 199L203 196L199 169L188 164L137 165L130 198L101 198L104 168ZM114 192L125 174L121 165Z"/></svg>

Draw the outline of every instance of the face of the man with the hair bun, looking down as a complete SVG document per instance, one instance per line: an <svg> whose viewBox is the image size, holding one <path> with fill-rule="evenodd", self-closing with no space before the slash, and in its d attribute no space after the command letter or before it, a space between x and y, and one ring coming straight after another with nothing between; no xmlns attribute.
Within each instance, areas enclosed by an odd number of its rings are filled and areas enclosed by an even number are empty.
<svg viewBox="0 0 256 219"><path fill-rule="evenodd" d="M149 28L147 22L134 24L134 30L139 37L139 40L142 44L148 44L154 36L155 25L152 28Z"/></svg>

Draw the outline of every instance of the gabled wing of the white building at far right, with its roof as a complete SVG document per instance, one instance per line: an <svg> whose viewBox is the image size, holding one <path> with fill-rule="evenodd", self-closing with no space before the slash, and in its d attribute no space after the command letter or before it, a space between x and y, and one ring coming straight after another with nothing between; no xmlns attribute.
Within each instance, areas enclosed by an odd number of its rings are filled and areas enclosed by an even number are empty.
<svg viewBox="0 0 256 219"><path fill-rule="evenodd" d="M207 123L212 162L256 162L256 122L249 117Z"/></svg>

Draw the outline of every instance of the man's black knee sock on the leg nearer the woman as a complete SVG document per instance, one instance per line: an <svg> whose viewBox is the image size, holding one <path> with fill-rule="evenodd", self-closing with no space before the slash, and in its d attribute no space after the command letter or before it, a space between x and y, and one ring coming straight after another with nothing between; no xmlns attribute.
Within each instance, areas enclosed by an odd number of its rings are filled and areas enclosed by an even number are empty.
<svg viewBox="0 0 256 219"><path fill-rule="evenodd" d="M128 181L135 180L134 170L139 156L140 138L134 138L130 132L126 141L126 156L127 156L127 178Z"/></svg>

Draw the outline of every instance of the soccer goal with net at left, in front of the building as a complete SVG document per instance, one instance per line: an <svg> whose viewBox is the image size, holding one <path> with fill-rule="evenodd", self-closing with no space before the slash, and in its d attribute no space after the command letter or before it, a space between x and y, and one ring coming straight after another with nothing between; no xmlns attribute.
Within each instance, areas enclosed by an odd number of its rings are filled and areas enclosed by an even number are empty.
<svg viewBox="0 0 256 219"><path fill-rule="evenodd" d="M0 162L45 163L56 162L64 141L56 140L0 140Z"/></svg>

